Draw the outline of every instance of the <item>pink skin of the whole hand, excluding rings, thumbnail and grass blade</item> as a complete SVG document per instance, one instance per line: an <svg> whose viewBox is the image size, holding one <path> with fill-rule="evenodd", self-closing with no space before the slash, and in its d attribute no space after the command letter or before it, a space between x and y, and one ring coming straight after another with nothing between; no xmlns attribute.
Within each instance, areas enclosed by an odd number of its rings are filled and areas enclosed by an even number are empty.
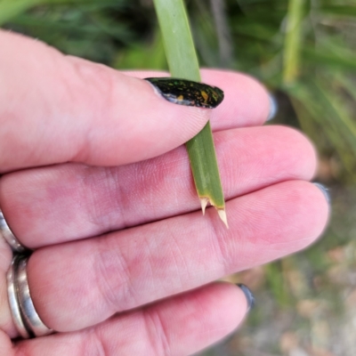
<svg viewBox="0 0 356 356"><path fill-rule="evenodd" d="M328 204L307 182L312 144L262 126L269 99L255 79L202 70L224 101L184 107L142 80L166 73L120 73L1 31L0 45L0 206L35 249L29 288L58 331L14 340L12 254L0 239L1 356L198 352L247 312L241 289L216 279L307 247L325 228ZM209 118L229 230L199 211L181 147Z"/></svg>

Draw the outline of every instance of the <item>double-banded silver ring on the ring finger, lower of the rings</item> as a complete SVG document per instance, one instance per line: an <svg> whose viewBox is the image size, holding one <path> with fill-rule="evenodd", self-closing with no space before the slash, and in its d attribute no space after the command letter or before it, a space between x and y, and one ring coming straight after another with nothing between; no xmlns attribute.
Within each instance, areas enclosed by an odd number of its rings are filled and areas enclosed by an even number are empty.
<svg viewBox="0 0 356 356"><path fill-rule="evenodd" d="M28 255L15 255L7 272L7 291L12 319L23 338L46 336L53 333L38 316L28 288Z"/></svg>

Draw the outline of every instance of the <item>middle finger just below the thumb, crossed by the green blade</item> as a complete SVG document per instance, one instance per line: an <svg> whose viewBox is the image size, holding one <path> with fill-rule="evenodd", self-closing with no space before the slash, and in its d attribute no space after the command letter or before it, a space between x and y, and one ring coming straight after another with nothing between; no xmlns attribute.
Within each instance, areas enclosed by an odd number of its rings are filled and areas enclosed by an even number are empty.
<svg viewBox="0 0 356 356"><path fill-rule="evenodd" d="M239 128L214 134L225 198L270 184L309 180L312 145L287 127ZM60 165L2 177L0 206L27 247L85 239L197 210L184 148L129 166ZM229 219L229 210L227 210Z"/></svg>

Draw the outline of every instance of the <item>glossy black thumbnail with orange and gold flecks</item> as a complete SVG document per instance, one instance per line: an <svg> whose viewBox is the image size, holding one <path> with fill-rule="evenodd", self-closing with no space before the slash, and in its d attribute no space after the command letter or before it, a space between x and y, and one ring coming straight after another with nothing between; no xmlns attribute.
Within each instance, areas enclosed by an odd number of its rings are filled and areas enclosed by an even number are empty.
<svg viewBox="0 0 356 356"><path fill-rule="evenodd" d="M223 101L223 91L216 86L173 77L150 77L145 80L174 104L214 109Z"/></svg>

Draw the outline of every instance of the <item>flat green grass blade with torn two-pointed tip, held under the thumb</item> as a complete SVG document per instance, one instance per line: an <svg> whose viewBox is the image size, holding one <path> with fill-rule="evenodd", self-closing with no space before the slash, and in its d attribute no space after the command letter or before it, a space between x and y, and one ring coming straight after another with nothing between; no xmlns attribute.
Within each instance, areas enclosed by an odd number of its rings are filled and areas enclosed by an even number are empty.
<svg viewBox="0 0 356 356"><path fill-rule="evenodd" d="M172 77L200 82L198 58L182 0L154 0ZM215 206L227 225L225 201L220 181L210 124L186 143L190 167L203 214L206 204Z"/></svg>

